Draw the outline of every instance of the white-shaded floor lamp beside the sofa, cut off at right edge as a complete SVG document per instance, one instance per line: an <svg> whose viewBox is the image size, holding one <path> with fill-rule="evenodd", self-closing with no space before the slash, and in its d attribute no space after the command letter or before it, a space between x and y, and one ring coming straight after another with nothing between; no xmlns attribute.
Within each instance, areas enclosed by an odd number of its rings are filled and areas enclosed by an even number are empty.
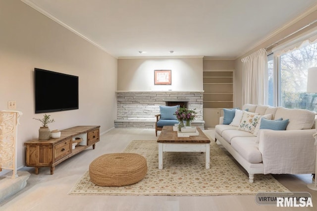
<svg viewBox="0 0 317 211"><path fill-rule="evenodd" d="M307 74L307 92L317 93L317 67L311 67L308 69ZM316 133L315 137L315 147L316 147L316 162L315 162L315 184L308 184L307 187L312 190L317 190L317 121L316 121Z"/></svg>

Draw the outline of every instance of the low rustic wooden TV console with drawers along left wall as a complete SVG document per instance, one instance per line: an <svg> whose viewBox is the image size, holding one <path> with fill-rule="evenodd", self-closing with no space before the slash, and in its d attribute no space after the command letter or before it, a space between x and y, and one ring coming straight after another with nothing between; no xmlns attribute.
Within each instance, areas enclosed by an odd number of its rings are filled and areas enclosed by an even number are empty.
<svg viewBox="0 0 317 211"><path fill-rule="evenodd" d="M57 164L90 146L95 149L100 136L99 128L100 126L76 126L61 130L60 138L45 141L33 139L25 142L26 166L35 167L36 174L39 173L40 167L50 167L53 174ZM72 149L72 141L75 137L81 137L83 141Z"/></svg>

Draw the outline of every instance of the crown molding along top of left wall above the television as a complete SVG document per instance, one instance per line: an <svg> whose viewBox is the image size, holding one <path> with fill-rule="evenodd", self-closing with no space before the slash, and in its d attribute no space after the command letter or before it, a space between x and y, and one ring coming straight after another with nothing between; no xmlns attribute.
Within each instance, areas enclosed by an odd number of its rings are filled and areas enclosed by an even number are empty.
<svg viewBox="0 0 317 211"><path fill-rule="evenodd" d="M104 48L103 46L99 45L98 43L94 42L93 40L89 39L88 37L86 37L85 35L79 33L77 30L75 30L74 28L72 28L71 26L65 24L64 22L62 22L61 20L59 20L58 18L56 18L55 16L53 16L51 13L45 11L44 9L42 9L41 7L39 7L38 5L36 5L35 3L31 2L30 0L21 0L23 3L29 5L30 7L32 7L33 9L37 10L38 12L42 13L43 15L47 16L48 18L52 19L53 21L55 21L56 23L58 23L59 25L65 27L66 29L68 29L69 31L75 33L76 35L78 35L79 37L83 38L84 40L90 42L91 44L95 45L96 47L98 47L99 49L105 51L106 53L110 54L111 56L113 56L106 48ZM115 56L113 56L114 58L116 58ZM117 59L117 58L116 58Z"/></svg>

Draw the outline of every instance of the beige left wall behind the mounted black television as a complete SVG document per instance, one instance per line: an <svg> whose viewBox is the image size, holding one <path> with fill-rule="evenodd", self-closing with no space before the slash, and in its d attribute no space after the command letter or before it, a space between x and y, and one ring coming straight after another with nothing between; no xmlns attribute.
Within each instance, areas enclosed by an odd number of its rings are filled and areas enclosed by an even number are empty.
<svg viewBox="0 0 317 211"><path fill-rule="evenodd" d="M23 112L18 167L25 165L24 142L38 137L41 124L32 118L43 117L34 113L35 67L79 76L79 109L49 113L52 130L100 125L105 132L114 126L117 59L20 0L0 1L0 27L0 110L16 100ZM52 98L58 100L58 93Z"/></svg>

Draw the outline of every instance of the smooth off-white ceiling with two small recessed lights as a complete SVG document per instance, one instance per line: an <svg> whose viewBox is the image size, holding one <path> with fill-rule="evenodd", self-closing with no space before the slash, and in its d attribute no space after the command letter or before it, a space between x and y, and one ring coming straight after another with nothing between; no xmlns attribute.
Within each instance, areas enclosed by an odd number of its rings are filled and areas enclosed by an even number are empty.
<svg viewBox="0 0 317 211"><path fill-rule="evenodd" d="M315 8L317 3L317 0L22 1L116 58L236 58L309 8Z"/></svg>

